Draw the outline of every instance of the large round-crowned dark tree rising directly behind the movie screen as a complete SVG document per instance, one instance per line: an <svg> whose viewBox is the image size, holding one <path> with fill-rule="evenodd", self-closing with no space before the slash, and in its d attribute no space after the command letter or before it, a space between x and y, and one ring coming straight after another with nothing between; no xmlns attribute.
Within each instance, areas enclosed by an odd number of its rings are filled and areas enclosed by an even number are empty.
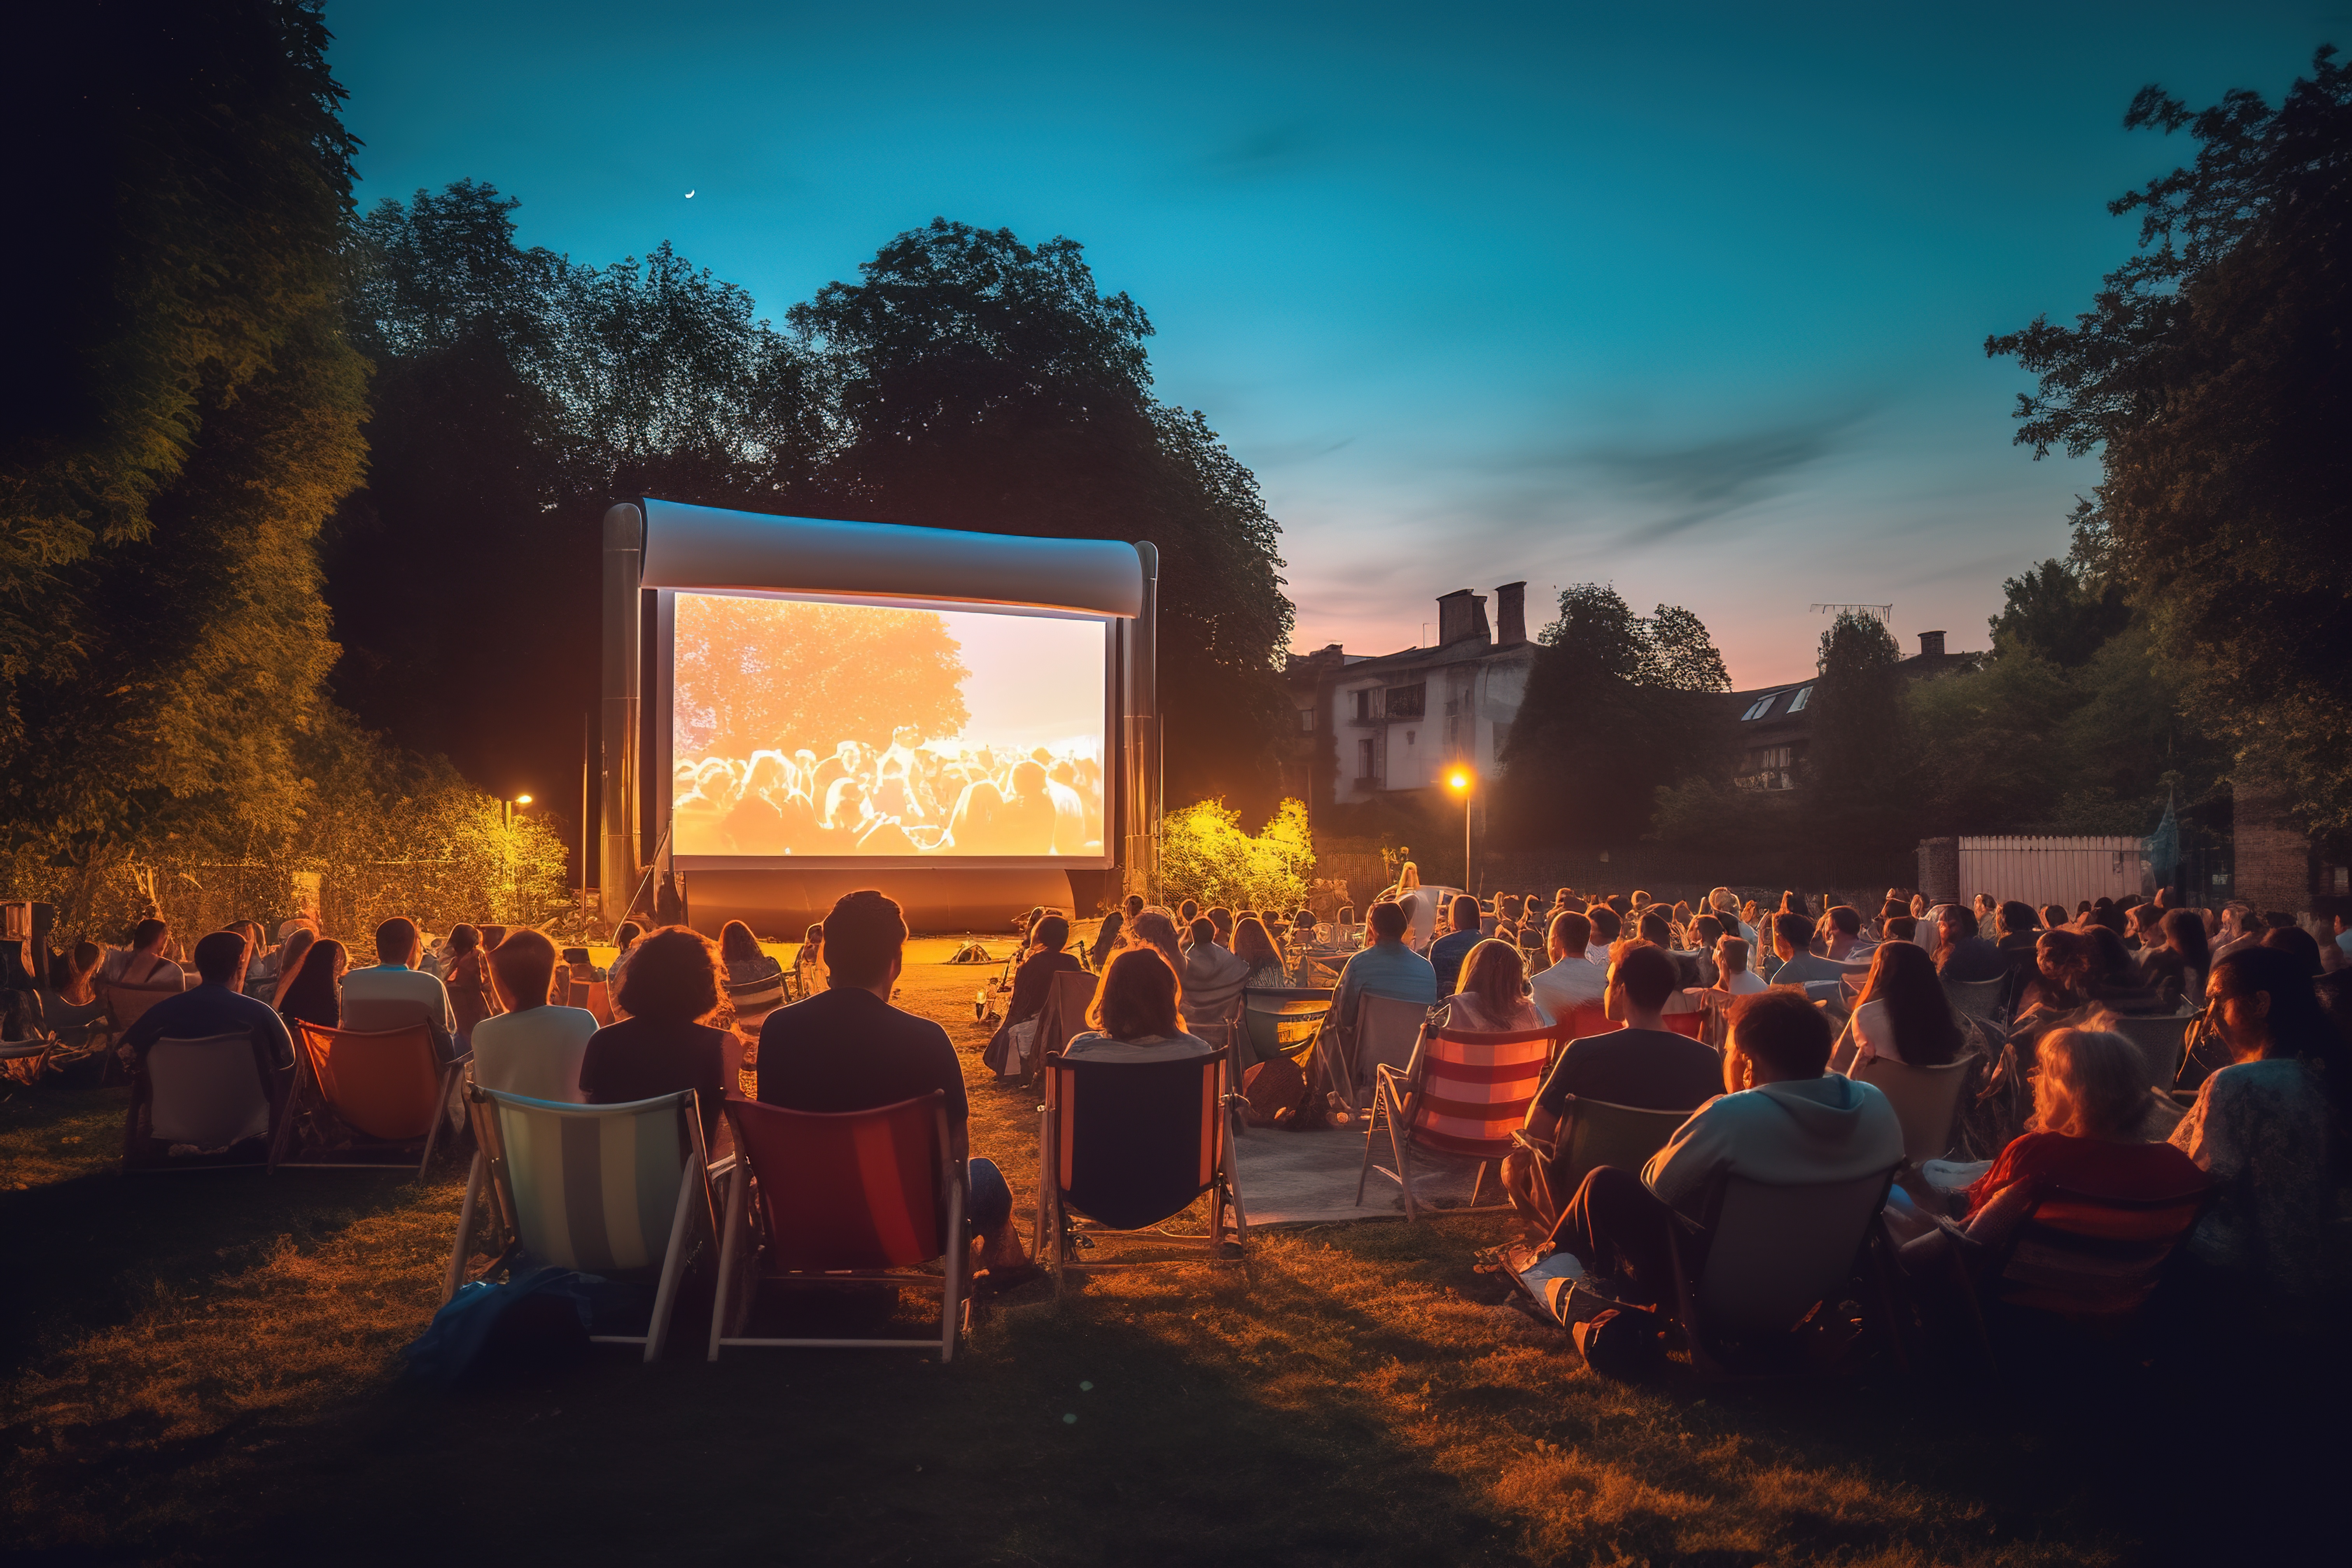
<svg viewBox="0 0 2352 1568"><path fill-rule="evenodd" d="M1197 411L1150 397L1152 334L1084 247L934 219L795 306L837 364L830 491L856 517L1160 548L1169 799L1272 806L1289 701L1277 524Z"/></svg>

